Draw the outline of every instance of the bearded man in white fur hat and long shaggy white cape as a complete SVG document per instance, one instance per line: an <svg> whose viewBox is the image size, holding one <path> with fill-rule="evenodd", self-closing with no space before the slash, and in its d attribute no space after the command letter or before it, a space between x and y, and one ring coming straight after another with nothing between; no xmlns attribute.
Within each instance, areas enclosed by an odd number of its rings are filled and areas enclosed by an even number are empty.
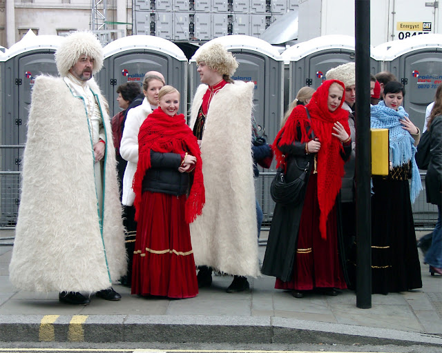
<svg viewBox="0 0 442 353"><path fill-rule="evenodd" d="M93 74L103 50L91 32L70 34L55 53L60 77L35 80L10 280L86 305L121 296L126 272L115 148ZM86 293L86 296L80 292Z"/></svg>

